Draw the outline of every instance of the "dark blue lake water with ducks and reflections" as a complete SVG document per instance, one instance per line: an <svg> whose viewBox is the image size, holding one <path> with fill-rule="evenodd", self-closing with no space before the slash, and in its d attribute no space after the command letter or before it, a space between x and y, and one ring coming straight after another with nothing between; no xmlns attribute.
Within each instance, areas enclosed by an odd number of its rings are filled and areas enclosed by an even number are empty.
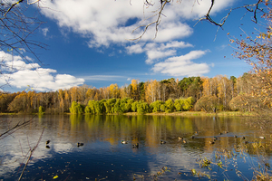
<svg viewBox="0 0 272 181"><path fill-rule="evenodd" d="M33 117L1 116L0 134ZM269 173L272 160L270 128L251 121L243 117L35 116L24 128L0 137L0 180L18 179L25 156L42 133L23 180L251 180L254 171ZM214 137L217 140L210 143ZM46 140L51 140L47 147ZM83 146L78 147L78 142ZM132 147L136 143L139 148Z"/></svg>

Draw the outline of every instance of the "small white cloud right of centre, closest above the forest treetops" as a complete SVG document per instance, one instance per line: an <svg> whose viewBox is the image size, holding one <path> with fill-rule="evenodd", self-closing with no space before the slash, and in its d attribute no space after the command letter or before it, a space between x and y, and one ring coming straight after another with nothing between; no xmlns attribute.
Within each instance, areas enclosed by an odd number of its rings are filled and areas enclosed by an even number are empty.
<svg viewBox="0 0 272 181"><path fill-rule="evenodd" d="M207 63L195 63L191 60L198 59L209 51L191 51L188 54L170 57L164 62L154 65L152 71L169 74L171 76L199 76L209 72Z"/></svg>

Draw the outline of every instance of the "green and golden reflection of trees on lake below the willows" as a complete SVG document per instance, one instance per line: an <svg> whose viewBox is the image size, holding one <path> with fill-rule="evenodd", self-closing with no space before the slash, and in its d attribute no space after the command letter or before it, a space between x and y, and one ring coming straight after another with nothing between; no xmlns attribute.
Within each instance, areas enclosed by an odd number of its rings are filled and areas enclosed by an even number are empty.
<svg viewBox="0 0 272 181"><path fill-rule="evenodd" d="M227 117L172 117L172 116L124 116L124 115L85 115L70 116L71 133L77 132L86 140L103 139L112 145L118 144L121 139L130 140L133 143L144 141L148 147L159 146L160 139L175 142L179 136L190 138L195 131L199 132L193 141L189 141L188 147L205 147L210 150L213 146L209 141L219 133L229 132L219 136L217 147L226 148L235 144L234 134L239 137L247 132L248 125L244 120ZM239 134L240 133L240 134Z"/></svg>

